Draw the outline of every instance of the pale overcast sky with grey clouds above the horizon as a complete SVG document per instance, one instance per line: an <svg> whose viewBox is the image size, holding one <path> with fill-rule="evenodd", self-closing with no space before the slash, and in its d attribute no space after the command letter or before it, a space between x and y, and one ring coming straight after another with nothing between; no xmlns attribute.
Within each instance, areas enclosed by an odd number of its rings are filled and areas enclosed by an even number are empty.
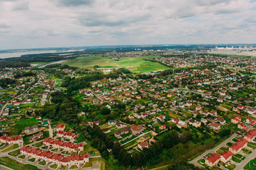
<svg viewBox="0 0 256 170"><path fill-rule="evenodd" d="M256 43L256 0L0 0L0 49Z"/></svg>

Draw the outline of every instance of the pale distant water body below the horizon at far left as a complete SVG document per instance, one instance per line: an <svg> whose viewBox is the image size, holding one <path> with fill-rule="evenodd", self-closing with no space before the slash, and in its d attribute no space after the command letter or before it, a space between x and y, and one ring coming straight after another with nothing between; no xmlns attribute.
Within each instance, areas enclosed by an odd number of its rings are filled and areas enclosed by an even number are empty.
<svg viewBox="0 0 256 170"><path fill-rule="evenodd" d="M23 52L4 52L0 53L0 58L12 58L12 57L21 57L21 55L37 55L45 53L56 53L56 52L75 52L82 50L33 50L33 51L23 51Z"/></svg>

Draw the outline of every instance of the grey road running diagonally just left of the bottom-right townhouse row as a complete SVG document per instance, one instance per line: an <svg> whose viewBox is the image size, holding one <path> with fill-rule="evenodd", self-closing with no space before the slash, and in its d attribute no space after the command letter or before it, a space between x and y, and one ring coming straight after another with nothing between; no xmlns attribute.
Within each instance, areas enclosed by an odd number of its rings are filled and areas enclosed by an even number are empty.
<svg viewBox="0 0 256 170"><path fill-rule="evenodd" d="M191 162L189 162L189 163L194 164L194 165L196 165L196 166L202 166L201 164L199 164L199 163L197 162L197 161L199 161L199 159L204 159L204 156L206 156L206 154L208 154L208 153L211 153L211 154L212 154L212 153L216 152L216 150L218 150L218 149L221 148L221 147L227 147L226 143L228 143L228 142L233 142L233 138L236 137L236 136L237 136L237 134L234 133L232 136L228 137L227 140L223 141L220 145L214 147L213 149L207 150L206 152L204 152L203 154L201 154L199 157L196 157L195 159L193 159L193 160L192 160ZM256 152L255 152L255 153L256 153ZM251 154L251 155L252 155L252 154Z"/></svg>

